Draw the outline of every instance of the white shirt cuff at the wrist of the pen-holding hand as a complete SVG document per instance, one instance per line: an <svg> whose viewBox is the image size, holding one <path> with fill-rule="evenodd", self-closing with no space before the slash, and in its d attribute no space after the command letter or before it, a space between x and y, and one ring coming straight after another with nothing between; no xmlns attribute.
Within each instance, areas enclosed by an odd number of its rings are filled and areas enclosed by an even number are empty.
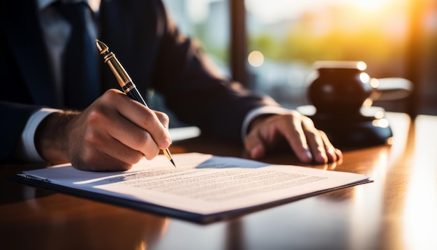
<svg viewBox="0 0 437 250"><path fill-rule="evenodd" d="M38 151L35 147L35 133L36 128L40 122L43 121L47 115L50 115L52 112L61 112L61 110L57 110L54 108L41 108L40 110L34 112L31 115L29 120L27 120L27 124L24 127L24 131L21 135L21 145L22 152L21 156L24 161L34 162L34 163L44 163L44 159L38 154Z"/></svg>

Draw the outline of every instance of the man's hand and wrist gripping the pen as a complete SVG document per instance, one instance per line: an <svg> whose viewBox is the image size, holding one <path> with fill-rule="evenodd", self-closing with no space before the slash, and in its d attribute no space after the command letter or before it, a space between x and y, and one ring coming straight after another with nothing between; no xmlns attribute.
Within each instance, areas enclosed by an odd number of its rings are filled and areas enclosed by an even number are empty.
<svg viewBox="0 0 437 250"><path fill-rule="evenodd" d="M49 115L38 126L36 148L50 163L80 170L128 170L170 146L168 116L110 89L83 112Z"/></svg>

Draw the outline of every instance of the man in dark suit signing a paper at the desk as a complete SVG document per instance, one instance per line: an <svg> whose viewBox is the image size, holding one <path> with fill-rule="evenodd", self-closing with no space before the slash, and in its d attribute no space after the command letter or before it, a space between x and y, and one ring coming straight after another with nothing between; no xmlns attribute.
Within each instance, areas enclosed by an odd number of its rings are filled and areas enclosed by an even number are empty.
<svg viewBox="0 0 437 250"><path fill-rule="evenodd" d="M311 119L219 75L199 45L178 33L161 0L86 2L91 40L107 43L138 89L159 91L182 122L243 140L253 159L283 139L303 162L341 159ZM153 159L171 144L168 116L117 90L97 50L98 79L82 87L76 82L73 90L65 86L60 58L73 31L56 4L1 3L0 161L124 170L143 156Z"/></svg>

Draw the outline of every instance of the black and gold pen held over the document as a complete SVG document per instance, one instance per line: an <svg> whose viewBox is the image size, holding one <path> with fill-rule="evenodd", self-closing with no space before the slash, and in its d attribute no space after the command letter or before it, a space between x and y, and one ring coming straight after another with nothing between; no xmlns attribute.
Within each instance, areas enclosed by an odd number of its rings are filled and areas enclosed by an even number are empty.
<svg viewBox="0 0 437 250"><path fill-rule="evenodd" d="M121 89L123 89L124 91L124 94L133 98L135 101L142 103L142 105L149 107L142 98L138 89L135 87L135 84L133 84L131 77L129 77L123 66L121 66L117 57L115 57L115 54L109 52L109 47L105 45L105 43L98 41L98 39L96 39L96 46L98 52L103 55L103 60L105 61L105 64L108 64L112 73L114 73L115 78L117 78L117 82L119 82ZM175 162L173 161L172 155L170 154L170 150L168 150L168 148L163 149L163 153L176 168Z"/></svg>

